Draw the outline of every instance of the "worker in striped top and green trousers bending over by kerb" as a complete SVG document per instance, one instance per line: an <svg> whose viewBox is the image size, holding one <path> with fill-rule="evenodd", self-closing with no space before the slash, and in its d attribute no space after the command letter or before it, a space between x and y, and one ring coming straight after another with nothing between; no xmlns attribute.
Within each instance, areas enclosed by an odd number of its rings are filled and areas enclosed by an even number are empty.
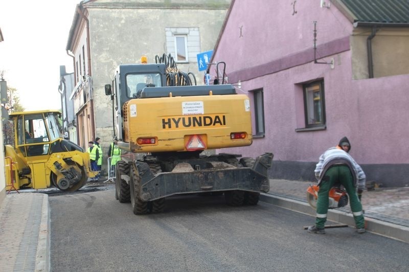
<svg viewBox="0 0 409 272"><path fill-rule="evenodd" d="M351 143L347 137L344 137L336 147L331 147L324 152L316 164L314 172L320 190L316 204L315 225L308 228L310 233L325 234L324 225L327 221L329 190L336 183L342 184L349 195L357 232L365 233L360 198L365 188L366 176L362 168L348 154L350 150ZM358 195L356 187L358 187Z"/></svg>

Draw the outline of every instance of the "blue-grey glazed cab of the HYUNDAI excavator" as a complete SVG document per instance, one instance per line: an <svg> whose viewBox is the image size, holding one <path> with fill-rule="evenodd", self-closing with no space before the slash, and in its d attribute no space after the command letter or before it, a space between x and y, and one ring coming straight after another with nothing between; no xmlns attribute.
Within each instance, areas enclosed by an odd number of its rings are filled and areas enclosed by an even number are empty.
<svg viewBox="0 0 409 272"><path fill-rule="evenodd" d="M115 136L124 139L124 104L138 98L138 93L146 87L166 86L165 69L165 64L157 63L119 65L115 70L112 83L105 85L105 94L112 100Z"/></svg>

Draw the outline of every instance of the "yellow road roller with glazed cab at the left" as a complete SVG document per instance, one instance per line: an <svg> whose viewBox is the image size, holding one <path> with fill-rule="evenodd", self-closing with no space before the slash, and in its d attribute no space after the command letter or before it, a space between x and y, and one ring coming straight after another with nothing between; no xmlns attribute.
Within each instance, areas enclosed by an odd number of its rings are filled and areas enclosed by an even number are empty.
<svg viewBox="0 0 409 272"><path fill-rule="evenodd" d="M88 177L89 154L63 138L61 113L56 110L13 112L3 122L6 190L76 191Z"/></svg>

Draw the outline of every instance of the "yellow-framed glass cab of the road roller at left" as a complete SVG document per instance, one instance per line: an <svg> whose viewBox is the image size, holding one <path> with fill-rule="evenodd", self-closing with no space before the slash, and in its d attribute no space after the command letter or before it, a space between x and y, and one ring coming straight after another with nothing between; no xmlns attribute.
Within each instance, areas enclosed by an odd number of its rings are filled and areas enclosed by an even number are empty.
<svg viewBox="0 0 409 272"><path fill-rule="evenodd" d="M61 113L17 112L10 114L15 126L15 148L24 157L48 155L52 144L62 138Z"/></svg>

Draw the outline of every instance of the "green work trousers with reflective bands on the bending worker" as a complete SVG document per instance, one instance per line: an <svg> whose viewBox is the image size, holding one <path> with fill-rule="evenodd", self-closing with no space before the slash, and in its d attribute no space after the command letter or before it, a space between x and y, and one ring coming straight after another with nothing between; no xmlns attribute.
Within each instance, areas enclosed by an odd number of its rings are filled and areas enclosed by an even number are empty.
<svg viewBox="0 0 409 272"><path fill-rule="evenodd" d="M318 191L315 226L317 228L324 228L325 222L327 221L329 190L336 183L342 184L347 190L356 228L363 228L365 222L363 219L362 205L355 191L351 170L347 165L334 165L325 172L320 183L320 190Z"/></svg>

